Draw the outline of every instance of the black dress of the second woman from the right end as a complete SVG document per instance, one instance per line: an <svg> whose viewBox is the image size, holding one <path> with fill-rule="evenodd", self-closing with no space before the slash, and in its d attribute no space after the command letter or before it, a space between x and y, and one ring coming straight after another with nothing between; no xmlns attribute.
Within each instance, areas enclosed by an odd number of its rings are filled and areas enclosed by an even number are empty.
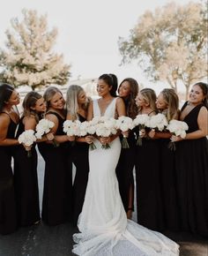
<svg viewBox="0 0 208 256"><path fill-rule="evenodd" d="M179 230L179 212L176 196L175 151L168 148L170 139L158 139L160 143L160 185L164 211L164 228Z"/></svg>

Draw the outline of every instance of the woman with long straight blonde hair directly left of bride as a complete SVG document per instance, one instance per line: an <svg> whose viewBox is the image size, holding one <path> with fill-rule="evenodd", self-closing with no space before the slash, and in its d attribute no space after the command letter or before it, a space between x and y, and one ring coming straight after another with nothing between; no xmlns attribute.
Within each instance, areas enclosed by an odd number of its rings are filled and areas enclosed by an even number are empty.
<svg viewBox="0 0 208 256"><path fill-rule="evenodd" d="M87 108L89 99L87 99L85 91L82 87L72 85L66 93L67 119L86 121ZM86 136L89 137L89 136ZM78 215L81 213L83 202L85 200L85 189L88 180L89 161L88 150L89 145L86 143L86 137L76 137L76 143L71 148L72 162L76 167L76 175L73 183L73 222L77 225Z"/></svg>

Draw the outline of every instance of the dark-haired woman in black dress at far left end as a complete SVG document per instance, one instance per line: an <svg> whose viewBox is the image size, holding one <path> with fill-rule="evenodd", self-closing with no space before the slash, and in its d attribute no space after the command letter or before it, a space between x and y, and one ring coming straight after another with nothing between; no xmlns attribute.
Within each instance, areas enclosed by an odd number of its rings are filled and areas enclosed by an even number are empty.
<svg viewBox="0 0 208 256"><path fill-rule="evenodd" d="M0 234L9 234L17 229L16 201L11 169L14 139L19 123L16 107L19 104L18 92L8 84L0 84Z"/></svg>

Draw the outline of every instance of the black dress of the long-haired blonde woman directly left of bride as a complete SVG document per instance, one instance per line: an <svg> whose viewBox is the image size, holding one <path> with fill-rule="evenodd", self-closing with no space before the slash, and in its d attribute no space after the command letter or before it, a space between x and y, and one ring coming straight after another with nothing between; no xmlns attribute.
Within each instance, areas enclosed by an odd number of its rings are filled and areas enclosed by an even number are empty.
<svg viewBox="0 0 208 256"><path fill-rule="evenodd" d="M85 122L85 117L78 115L80 122ZM76 167L76 175L73 183L73 223L77 225L78 215L82 211L82 206L85 200L85 189L88 181L89 173L89 145L85 142L76 141L71 147L71 161Z"/></svg>

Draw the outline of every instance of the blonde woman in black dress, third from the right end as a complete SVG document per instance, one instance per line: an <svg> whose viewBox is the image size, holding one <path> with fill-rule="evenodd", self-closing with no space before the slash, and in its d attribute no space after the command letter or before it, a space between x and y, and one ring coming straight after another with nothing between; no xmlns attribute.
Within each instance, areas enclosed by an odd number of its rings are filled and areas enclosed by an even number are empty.
<svg viewBox="0 0 208 256"><path fill-rule="evenodd" d="M136 98L138 114L156 115L156 94L151 88L142 89ZM160 154L156 139L142 132L142 146L137 146L137 222L151 230L162 230L162 206L160 195Z"/></svg>

